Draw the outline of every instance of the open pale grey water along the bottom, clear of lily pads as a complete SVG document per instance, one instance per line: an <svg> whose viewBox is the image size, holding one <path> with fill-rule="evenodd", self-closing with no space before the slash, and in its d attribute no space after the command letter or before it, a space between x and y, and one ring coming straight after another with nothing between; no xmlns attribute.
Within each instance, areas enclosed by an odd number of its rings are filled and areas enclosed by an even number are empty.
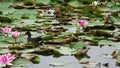
<svg viewBox="0 0 120 68"><path fill-rule="evenodd" d="M40 64L33 64L29 68L83 68L83 66L86 66L87 68L119 68L115 65L115 59L113 59L111 56L114 49L112 49L110 46L91 46L90 48L91 49L87 52L90 58L84 59L87 59L87 61L90 62L96 62L99 65L82 65L78 63L79 60L77 60L74 56L61 56L59 58L54 58L52 56L40 56ZM64 62L65 65L59 67L49 66L50 63L55 62ZM108 67L104 66L106 63L108 63Z"/></svg>

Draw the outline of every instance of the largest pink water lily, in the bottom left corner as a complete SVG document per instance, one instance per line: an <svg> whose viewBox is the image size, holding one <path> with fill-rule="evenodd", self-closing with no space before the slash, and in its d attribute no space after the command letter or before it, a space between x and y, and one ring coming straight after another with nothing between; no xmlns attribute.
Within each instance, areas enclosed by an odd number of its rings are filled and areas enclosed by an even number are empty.
<svg viewBox="0 0 120 68"><path fill-rule="evenodd" d="M0 55L0 65L12 65L11 62L15 59L15 57L11 53L7 53L4 55Z"/></svg>

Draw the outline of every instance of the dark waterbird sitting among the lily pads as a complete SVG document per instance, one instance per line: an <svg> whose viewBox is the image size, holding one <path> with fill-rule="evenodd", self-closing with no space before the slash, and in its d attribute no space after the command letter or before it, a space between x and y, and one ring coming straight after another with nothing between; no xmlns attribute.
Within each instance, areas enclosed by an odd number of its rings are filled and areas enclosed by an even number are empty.
<svg viewBox="0 0 120 68"><path fill-rule="evenodd" d="M25 33L25 35L28 36L28 37L27 37L27 42L28 42L28 43L32 42L32 43L37 43L37 44L39 44L39 45L43 45L43 40L42 40L41 36L32 38L32 37L31 37L32 34L31 34L30 31L27 31L27 32Z"/></svg>

